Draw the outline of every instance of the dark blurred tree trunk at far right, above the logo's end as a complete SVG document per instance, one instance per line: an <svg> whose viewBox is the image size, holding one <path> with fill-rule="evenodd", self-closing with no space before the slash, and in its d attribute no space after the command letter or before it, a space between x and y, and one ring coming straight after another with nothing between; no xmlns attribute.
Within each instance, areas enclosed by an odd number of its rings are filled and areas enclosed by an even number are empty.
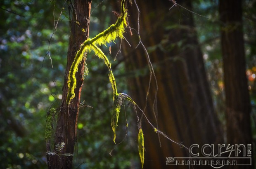
<svg viewBox="0 0 256 169"><path fill-rule="evenodd" d="M251 104L246 77L244 38L242 31L242 0L220 0L221 46L223 54L227 141L252 144ZM242 155L240 153L239 155ZM242 157L242 156L240 156ZM238 166L236 166L239 168ZM234 167L232 167L234 168ZM243 166L245 168L254 168Z"/></svg>

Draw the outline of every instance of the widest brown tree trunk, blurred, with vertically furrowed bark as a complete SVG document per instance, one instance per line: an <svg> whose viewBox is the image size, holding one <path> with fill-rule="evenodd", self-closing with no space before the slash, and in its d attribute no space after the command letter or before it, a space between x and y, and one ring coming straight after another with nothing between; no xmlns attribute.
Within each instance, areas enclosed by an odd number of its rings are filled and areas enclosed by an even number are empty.
<svg viewBox="0 0 256 169"><path fill-rule="evenodd" d="M140 36L149 52L159 87L159 130L188 148L194 143L200 146L222 143L221 127L214 112L192 13L179 6L168 11L173 5L168 0L141 0L137 3L141 12ZM188 9L192 7L190 0L179 0L178 3ZM137 29L136 7L130 7L128 12L130 26ZM133 34L130 36L127 33L126 38L134 48L138 38L135 31ZM149 84L146 55L141 45L131 50L125 41L122 44L126 67L133 71L133 77L129 80L131 96L143 108ZM152 80L145 111L153 124L156 124L152 111L155 85ZM142 129L145 135L145 169L170 168L166 166L166 157L189 157L185 148L162 136L160 147L157 134L146 120L143 120ZM196 168L199 167L207 168Z"/></svg>

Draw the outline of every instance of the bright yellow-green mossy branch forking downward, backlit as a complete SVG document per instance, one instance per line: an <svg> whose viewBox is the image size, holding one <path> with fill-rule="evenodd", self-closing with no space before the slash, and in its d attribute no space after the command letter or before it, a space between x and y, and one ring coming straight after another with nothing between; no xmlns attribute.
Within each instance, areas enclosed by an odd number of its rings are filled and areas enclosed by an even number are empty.
<svg viewBox="0 0 256 169"><path fill-rule="evenodd" d="M127 12L125 9L125 0L121 1L121 15L117 19L116 23L109 26L105 31L102 33L99 33L92 39L85 40L83 44L81 45L81 48L78 50L76 57L71 65L71 68L69 70L69 77L68 77L68 87L69 91L67 94L66 104L69 105L71 100L75 97L75 89L76 89L76 72L78 71L78 65L83 60L85 53L90 53L92 50L95 52L95 55L97 55L100 59L104 60L104 63L107 65L107 68L109 70L109 81L111 83L112 89L113 89L113 111L112 111L112 117L111 117L111 127L114 132L114 143L116 143L116 127L119 119L119 113L121 109L121 103L123 99L127 99L131 103L137 106L137 104L133 101L133 99L130 98L127 94L118 93L116 89L116 80L114 78L114 74L111 70L111 63L109 62L109 59L107 56L102 52L102 50L97 47L97 45L106 45L107 43L110 43L116 38L123 39L123 33L125 32L125 26L126 24L126 17ZM127 124L126 124L127 125ZM142 129L139 131L139 154L140 159L142 162L142 167L144 163L144 138Z"/></svg>

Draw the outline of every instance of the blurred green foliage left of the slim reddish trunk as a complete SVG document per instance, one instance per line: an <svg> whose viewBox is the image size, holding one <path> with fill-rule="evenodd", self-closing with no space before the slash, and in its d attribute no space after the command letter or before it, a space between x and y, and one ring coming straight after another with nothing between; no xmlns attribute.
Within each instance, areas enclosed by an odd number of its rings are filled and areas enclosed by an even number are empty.
<svg viewBox="0 0 256 169"><path fill-rule="evenodd" d="M0 168L44 169L45 116L60 101L69 24L59 23L52 39L51 68L44 56L53 31L52 6L47 1L5 0L0 7L19 14L0 9ZM55 99L49 101L52 95Z"/></svg>

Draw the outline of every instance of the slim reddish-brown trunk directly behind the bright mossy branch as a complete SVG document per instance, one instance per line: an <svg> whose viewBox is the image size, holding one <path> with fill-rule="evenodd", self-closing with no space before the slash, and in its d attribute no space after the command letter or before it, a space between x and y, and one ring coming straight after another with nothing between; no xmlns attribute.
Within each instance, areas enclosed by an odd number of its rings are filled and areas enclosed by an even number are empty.
<svg viewBox="0 0 256 169"><path fill-rule="evenodd" d="M76 56L76 52L80 49L80 44L89 36L89 21L90 21L91 0L74 0L69 3L69 10L72 12L70 21L71 35L69 38L69 49L67 55L66 73L64 77L64 86L62 94L62 104L58 116L57 127L55 131L54 146L64 142L65 146L61 154L73 153L76 144L76 124L78 119L78 110L81 96L81 87L83 85L83 72L85 59L81 62L76 73L77 85L75 89L76 97L71 101L69 107L66 106L66 96L68 93L68 75L69 69ZM82 28L86 32L82 31ZM50 150L50 145L47 145L47 151ZM52 150L55 151L55 150ZM49 169L71 169L72 156L47 155Z"/></svg>

